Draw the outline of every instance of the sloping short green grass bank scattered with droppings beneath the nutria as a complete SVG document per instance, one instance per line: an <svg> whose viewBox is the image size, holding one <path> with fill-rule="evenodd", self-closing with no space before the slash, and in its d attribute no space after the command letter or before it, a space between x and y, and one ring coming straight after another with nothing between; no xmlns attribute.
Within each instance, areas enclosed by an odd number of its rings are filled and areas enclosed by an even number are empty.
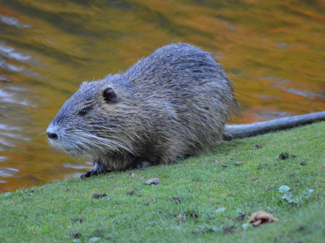
<svg viewBox="0 0 325 243"><path fill-rule="evenodd" d="M0 242L324 242L324 147L325 123L316 123L223 142L176 165L2 193ZM280 160L281 152L296 157ZM153 177L160 184L146 185ZM281 198L282 185L293 203ZM280 221L243 233L258 210Z"/></svg>

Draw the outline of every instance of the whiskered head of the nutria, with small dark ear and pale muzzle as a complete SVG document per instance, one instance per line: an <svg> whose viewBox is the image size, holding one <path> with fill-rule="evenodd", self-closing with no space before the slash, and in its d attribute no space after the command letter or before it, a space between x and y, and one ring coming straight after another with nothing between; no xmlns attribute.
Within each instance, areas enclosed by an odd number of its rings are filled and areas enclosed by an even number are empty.
<svg viewBox="0 0 325 243"><path fill-rule="evenodd" d="M108 76L81 85L46 131L52 145L72 156L101 157L101 154L130 150L120 139L123 129L118 130L119 134L116 131L116 109L123 106L123 95L119 88L107 82L116 78L117 75Z"/></svg>

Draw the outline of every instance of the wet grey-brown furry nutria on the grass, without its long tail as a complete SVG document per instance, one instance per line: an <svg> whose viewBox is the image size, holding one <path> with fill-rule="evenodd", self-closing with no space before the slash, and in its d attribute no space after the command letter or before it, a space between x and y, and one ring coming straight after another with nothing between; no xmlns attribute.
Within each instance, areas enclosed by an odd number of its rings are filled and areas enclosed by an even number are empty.
<svg viewBox="0 0 325 243"><path fill-rule="evenodd" d="M175 163L222 139L244 137L237 128L224 131L231 114L238 114L233 84L213 54L179 43L125 73L83 83L47 134L70 155L92 156L94 168L81 175L90 177Z"/></svg>

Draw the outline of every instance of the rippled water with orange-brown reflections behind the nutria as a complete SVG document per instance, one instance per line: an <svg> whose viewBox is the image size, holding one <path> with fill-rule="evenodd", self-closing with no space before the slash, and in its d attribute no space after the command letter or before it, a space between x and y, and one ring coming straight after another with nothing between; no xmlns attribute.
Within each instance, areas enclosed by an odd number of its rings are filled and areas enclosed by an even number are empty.
<svg viewBox="0 0 325 243"><path fill-rule="evenodd" d="M49 121L84 80L175 42L221 55L235 123L325 110L324 1L0 0L0 191L91 168L48 146Z"/></svg>

